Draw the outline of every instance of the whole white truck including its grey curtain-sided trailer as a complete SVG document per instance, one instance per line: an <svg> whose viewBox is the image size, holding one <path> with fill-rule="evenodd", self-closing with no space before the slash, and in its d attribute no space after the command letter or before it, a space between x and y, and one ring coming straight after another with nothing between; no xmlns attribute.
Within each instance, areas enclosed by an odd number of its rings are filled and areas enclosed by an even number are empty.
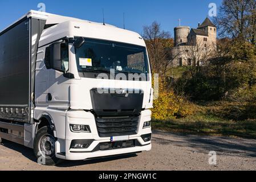
<svg viewBox="0 0 256 182"><path fill-rule="evenodd" d="M0 142L43 164L151 150L152 102L135 32L33 10L0 32Z"/></svg>

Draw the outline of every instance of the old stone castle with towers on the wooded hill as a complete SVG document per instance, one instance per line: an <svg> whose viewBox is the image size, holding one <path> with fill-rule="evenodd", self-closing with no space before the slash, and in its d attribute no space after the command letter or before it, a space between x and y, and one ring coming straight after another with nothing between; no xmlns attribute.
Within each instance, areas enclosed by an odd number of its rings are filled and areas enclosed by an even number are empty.
<svg viewBox="0 0 256 182"><path fill-rule="evenodd" d="M178 26L174 28L174 47L170 49L172 66L192 65L193 49L204 49L210 52L216 48L217 28L209 18L206 18L198 28ZM201 53L202 54L202 53ZM200 57L200 56L198 56Z"/></svg>

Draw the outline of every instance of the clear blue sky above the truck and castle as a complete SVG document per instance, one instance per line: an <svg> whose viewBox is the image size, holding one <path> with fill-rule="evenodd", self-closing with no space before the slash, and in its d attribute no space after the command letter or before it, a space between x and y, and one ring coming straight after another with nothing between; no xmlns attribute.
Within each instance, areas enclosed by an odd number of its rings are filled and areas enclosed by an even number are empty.
<svg viewBox="0 0 256 182"><path fill-rule="evenodd" d="M206 18L209 3L221 5L222 0L0 0L0 31L9 26L29 10L38 10L38 3L46 5L47 13L72 16L95 22L102 22L104 8L105 22L117 27L123 27L123 13L125 13L125 27L141 34L143 26L154 20L161 23L165 31L173 35L173 28L181 25L197 27L198 22Z"/></svg>

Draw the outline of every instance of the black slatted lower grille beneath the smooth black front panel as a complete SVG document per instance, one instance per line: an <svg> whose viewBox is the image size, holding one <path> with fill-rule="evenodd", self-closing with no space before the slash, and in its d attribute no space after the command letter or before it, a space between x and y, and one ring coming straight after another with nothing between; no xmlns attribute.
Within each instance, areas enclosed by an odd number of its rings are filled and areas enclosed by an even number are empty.
<svg viewBox="0 0 256 182"><path fill-rule="evenodd" d="M101 117L96 118L100 137L115 137L137 134L139 117Z"/></svg>

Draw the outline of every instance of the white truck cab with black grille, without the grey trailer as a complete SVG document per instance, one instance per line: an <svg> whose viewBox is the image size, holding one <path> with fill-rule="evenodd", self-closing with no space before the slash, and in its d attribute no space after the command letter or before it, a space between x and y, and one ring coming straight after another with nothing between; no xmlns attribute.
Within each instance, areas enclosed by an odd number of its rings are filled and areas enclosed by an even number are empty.
<svg viewBox="0 0 256 182"><path fill-rule="evenodd" d="M25 146L47 165L151 150L153 89L143 38L103 23L28 15L45 23L34 50Z"/></svg>

